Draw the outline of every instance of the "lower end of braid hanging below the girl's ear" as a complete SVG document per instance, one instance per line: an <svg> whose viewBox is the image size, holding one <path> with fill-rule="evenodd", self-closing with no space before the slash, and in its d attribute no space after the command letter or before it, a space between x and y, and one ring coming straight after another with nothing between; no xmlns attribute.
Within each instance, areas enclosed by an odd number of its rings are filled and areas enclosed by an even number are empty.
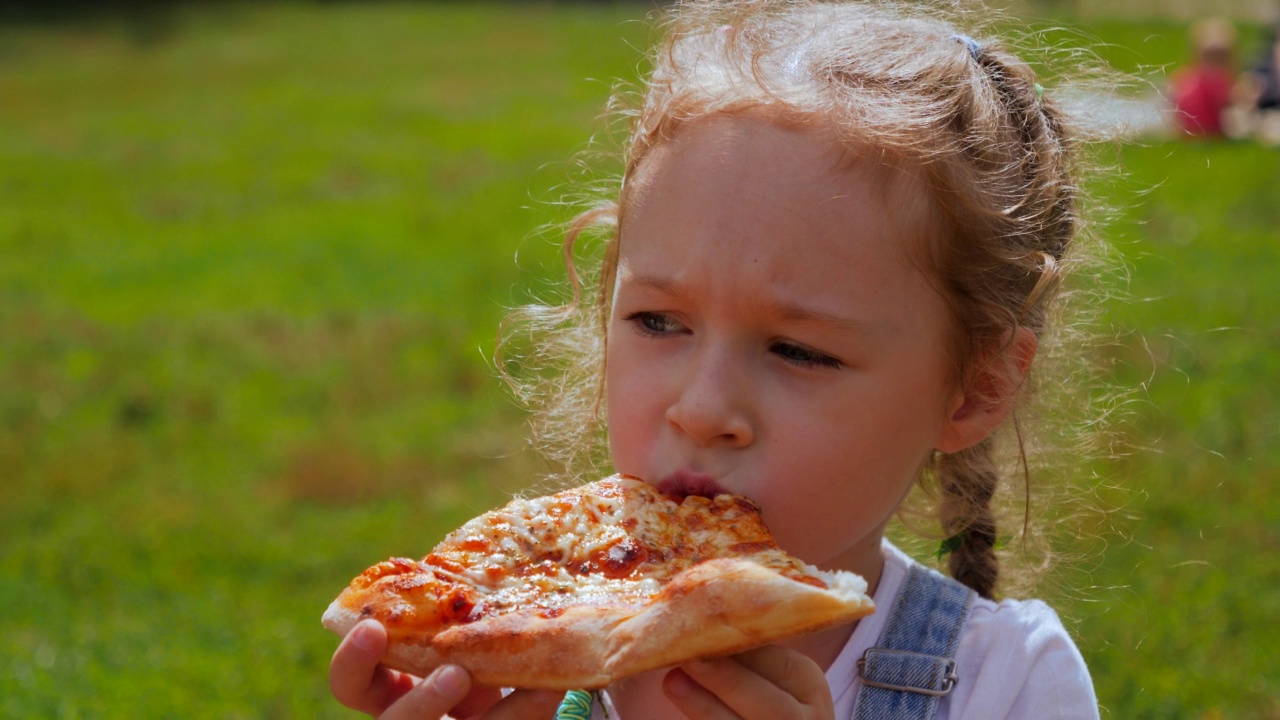
<svg viewBox="0 0 1280 720"><path fill-rule="evenodd" d="M959 452L943 454L937 462L942 489L942 529L959 537L951 551L951 577L982 597L992 597L1000 578L996 559L996 518L991 498L1000 475L992 459L992 441L983 439Z"/></svg>

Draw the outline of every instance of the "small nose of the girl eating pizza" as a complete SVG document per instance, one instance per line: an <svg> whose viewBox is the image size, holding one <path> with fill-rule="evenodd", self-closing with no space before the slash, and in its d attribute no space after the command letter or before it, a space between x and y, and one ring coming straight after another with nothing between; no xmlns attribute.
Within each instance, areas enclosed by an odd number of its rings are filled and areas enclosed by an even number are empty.
<svg viewBox="0 0 1280 720"><path fill-rule="evenodd" d="M667 407L667 421L699 447L746 447L755 441L755 428L744 383L745 378L732 379L722 368L707 363Z"/></svg>

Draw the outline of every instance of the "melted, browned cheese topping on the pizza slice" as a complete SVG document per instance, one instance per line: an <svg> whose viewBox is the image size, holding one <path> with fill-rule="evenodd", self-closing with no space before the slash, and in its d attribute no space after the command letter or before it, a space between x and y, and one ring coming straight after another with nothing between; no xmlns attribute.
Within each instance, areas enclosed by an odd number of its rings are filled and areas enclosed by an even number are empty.
<svg viewBox="0 0 1280 720"><path fill-rule="evenodd" d="M474 591L466 618L474 620L515 609L643 606L669 578L726 556L826 587L815 569L777 548L750 501L677 502L625 477L516 500L458 528L417 565L443 585ZM438 597L448 592L436 588Z"/></svg>

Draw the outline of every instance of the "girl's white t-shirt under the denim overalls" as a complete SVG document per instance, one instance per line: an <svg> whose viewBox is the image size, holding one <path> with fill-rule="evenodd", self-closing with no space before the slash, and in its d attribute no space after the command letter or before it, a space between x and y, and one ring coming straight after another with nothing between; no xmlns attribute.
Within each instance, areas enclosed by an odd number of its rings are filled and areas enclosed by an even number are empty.
<svg viewBox="0 0 1280 720"><path fill-rule="evenodd" d="M863 683L858 660L884 630L888 610L914 562L888 541L883 543L884 571L876 588L877 612L858 623L845 648L827 670L836 719L852 717L854 700ZM937 720L1076 720L1097 719L1098 701L1084 659L1050 606L1038 600L974 602L960 647L956 680L942 698ZM603 693L593 719L618 714ZM626 720L625 717L621 720Z"/></svg>

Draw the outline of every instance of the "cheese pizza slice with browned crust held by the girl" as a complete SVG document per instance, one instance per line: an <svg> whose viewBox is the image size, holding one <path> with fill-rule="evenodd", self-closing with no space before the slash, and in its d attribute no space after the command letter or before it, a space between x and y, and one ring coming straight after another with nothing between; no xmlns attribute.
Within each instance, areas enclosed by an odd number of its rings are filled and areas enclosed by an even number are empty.
<svg viewBox="0 0 1280 720"><path fill-rule="evenodd" d="M392 559L324 614L387 626L384 664L456 662L483 685L593 689L872 612L867 583L778 548L750 500L669 497L614 475L518 498L421 560Z"/></svg>

